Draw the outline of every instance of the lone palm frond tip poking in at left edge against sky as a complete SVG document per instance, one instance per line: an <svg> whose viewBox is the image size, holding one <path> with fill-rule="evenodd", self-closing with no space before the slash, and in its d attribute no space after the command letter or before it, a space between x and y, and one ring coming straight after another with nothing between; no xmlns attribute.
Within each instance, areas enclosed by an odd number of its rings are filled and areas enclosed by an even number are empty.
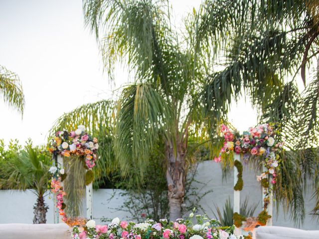
<svg viewBox="0 0 319 239"><path fill-rule="evenodd" d="M3 66L0 66L0 95L5 103L23 114L24 95L19 77Z"/></svg>

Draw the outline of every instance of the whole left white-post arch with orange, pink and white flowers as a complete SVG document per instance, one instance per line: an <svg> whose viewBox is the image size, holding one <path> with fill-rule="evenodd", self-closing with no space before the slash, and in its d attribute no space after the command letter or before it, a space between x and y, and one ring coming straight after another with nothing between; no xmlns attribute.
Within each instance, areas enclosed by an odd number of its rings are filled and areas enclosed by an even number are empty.
<svg viewBox="0 0 319 239"><path fill-rule="evenodd" d="M93 219L92 211L92 190L93 190L93 167L97 160L96 151L99 148L98 139L92 138L85 126L79 125L75 131L57 131L52 139L49 151L52 153L53 166L50 168L52 174L50 190L54 194L54 223L68 222L64 212L66 204L63 197L68 193L64 191L63 181L67 177L64 161L75 158L81 160L85 168L85 198L86 198L86 219Z"/></svg>

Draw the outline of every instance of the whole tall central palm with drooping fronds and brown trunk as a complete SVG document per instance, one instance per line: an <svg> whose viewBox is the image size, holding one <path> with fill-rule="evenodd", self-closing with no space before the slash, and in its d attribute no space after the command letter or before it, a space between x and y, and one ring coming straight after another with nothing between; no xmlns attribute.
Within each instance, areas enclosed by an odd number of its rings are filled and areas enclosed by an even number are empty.
<svg viewBox="0 0 319 239"><path fill-rule="evenodd" d="M207 63L194 61L190 47L194 18L185 20L188 33L178 32L171 26L170 10L167 1L84 1L87 25L98 39L103 31L102 54L109 76L119 60L128 63L136 77L122 88L114 108L91 104L62 116L54 128L65 127L68 119L85 125L106 120L112 129L108 134L112 156L123 176L140 186L152 151L163 142L159 151L165 159L169 215L176 219L181 217L191 154L208 141L199 101ZM196 145L190 146L189 135Z"/></svg>

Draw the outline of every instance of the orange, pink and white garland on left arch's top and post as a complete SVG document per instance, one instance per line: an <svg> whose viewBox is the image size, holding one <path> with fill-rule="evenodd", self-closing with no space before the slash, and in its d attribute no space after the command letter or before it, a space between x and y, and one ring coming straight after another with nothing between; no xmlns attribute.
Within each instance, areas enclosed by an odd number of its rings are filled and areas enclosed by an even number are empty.
<svg viewBox="0 0 319 239"><path fill-rule="evenodd" d="M64 157L80 156L84 158L87 169L92 169L95 166L97 159L96 151L99 148L98 139L92 138L86 131L85 126L79 125L75 131L57 131L55 137L52 140L49 151L52 153L53 158L57 155ZM52 166L49 169L52 174L50 180L50 189L52 193L56 194L56 207L59 210L59 215L62 216L63 222L67 222L68 218L64 213L66 205L63 201L63 196L66 193L61 186L62 181L66 178L64 168ZM89 185L93 181L92 170L86 172L86 185Z"/></svg>

